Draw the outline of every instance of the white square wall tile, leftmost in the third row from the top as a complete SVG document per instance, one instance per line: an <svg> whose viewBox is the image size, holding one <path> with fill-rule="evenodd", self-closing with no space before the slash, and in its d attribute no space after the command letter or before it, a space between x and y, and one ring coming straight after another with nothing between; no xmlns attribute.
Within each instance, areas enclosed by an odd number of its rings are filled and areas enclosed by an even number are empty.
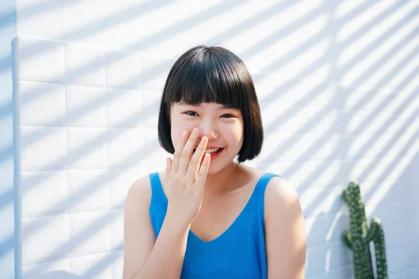
<svg viewBox="0 0 419 279"><path fill-rule="evenodd" d="M66 169L66 128L20 127L22 172Z"/></svg>

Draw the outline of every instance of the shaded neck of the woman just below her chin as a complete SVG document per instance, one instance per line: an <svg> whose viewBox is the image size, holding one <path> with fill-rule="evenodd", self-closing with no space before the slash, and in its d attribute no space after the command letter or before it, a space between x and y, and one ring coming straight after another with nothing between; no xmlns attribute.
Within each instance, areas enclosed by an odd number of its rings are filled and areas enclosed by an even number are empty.
<svg viewBox="0 0 419 279"><path fill-rule="evenodd" d="M205 195L216 196L228 192L232 186L232 178L236 177L235 173L239 171L239 168L237 163L231 161L216 174L207 175Z"/></svg>

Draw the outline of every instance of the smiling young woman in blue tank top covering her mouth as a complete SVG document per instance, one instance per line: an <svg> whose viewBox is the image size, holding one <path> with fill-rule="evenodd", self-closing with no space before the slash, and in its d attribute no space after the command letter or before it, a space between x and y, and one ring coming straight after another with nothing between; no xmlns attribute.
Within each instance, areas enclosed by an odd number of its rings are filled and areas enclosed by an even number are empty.
<svg viewBox="0 0 419 279"><path fill-rule="evenodd" d="M128 191L124 279L304 278L295 189L242 164L263 142L243 61L223 47L180 56L163 89L158 130L173 158Z"/></svg>

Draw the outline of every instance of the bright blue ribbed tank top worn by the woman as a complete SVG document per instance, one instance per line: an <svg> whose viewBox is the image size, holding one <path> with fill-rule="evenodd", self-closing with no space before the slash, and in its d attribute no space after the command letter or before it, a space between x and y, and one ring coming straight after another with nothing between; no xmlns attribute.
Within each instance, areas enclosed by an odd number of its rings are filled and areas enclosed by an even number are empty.
<svg viewBox="0 0 419 279"><path fill-rule="evenodd" d="M190 230L180 278L266 279L264 197L270 179L277 174L265 173L253 193L228 229L212 241L202 241ZM149 174L152 199L149 214L154 233L159 236L166 216L168 199L158 173Z"/></svg>

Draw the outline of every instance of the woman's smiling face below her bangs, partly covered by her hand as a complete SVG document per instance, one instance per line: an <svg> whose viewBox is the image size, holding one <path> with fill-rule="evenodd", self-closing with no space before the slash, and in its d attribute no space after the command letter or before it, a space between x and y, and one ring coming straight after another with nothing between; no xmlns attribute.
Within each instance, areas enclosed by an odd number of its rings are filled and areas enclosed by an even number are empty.
<svg viewBox="0 0 419 279"><path fill-rule="evenodd" d="M170 123L175 148L184 130L191 135L193 128L199 128L196 146L202 137L208 138L207 152L212 153L208 174L215 174L226 167L242 148L244 125L239 109L217 103L174 103L170 110Z"/></svg>

